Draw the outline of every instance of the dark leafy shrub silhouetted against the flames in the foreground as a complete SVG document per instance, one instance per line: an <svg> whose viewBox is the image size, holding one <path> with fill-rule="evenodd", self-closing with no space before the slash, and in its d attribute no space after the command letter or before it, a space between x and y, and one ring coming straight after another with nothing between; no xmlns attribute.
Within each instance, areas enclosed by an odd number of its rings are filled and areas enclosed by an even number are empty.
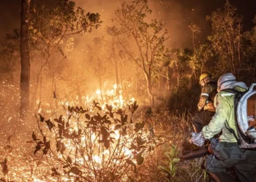
<svg viewBox="0 0 256 182"><path fill-rule="evenodd" d="M55 119L37 117L39 133L33 132L34 154L42 151L59 180L127 181L136 178L149 151L154 149L154 132L146 122L132 119L138 105L127 108L93 101L89 108L66 106ZM44 127L45 125L45 127ZM48 129L46 129L46 125ZM133 172L133 173L131 173Z"/></svg>

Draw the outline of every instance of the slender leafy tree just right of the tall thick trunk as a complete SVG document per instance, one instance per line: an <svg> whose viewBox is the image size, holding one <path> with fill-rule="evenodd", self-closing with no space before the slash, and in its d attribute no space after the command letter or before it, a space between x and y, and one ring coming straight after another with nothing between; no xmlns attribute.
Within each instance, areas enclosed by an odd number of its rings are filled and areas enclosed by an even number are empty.
<svg viewBox="0 0 256 182"><path fill-rule="evenodd" d="M45 68L48 67L48 73L52 73L50 75L55 82L56 68L61 59L67 58L65 48L70 44L70 38L91 32L94 28L98 28L102 21L98 13L86 12L81 7L76 7L74 1L67 0L59 1L53 9L46 9L44 4L36 6L32 15L31 44L35 51L34 66L38 68L34 73L36 74L34 95L36 95Z"/></svg>

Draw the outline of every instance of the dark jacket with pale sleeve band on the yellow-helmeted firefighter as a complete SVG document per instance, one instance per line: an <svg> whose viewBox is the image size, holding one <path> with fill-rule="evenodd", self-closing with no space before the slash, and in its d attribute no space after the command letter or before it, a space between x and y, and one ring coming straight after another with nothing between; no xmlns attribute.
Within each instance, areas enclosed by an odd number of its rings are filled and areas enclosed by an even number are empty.
<svg viewBox="0 0 256 182"><path fill-rule="evenodd" d="M206 83L200 95L199 103L197 104L198 110L201 111L212 111L215 112L214 97L217 94L217 83L208 82Z"/></svg>

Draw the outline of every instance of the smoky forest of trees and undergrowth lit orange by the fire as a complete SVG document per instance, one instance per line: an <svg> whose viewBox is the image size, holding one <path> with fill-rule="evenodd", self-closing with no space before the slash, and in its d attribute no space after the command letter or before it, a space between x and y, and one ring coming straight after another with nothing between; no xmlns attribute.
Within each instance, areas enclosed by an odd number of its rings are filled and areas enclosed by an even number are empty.
<svg viewBox="0 0 256 182"><path fill-rule="evenodd" d="M211 181L203 159L180 162L195 148L199 76L256 82L256 17L245 29L226 1L207 38L191 22L181 48L146 0L124 1L108 25L75 1L23 3L0 47L1 181Z"/></svg>

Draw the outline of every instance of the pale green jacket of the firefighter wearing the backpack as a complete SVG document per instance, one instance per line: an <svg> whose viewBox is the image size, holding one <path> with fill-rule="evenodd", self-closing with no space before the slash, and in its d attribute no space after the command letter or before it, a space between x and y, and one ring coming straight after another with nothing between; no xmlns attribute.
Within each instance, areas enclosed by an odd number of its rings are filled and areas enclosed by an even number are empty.
<svg viewBox="0 0 256 182"><path fill-rule="evenodd" d="M234 87L234 89L241 92L246 91L246 89L241 87ZM230 127L235 132L237 132L235 122L234 96L235 95L233 93L225 91L220 91L217 94L214 100L216 113L212 117L211 122L203 127L204 138L210 139L213 138L214 135L222 132L222 135L219 136L219 141L227 143L237 142L233 133L227 129L227 127Z"/></svg>

